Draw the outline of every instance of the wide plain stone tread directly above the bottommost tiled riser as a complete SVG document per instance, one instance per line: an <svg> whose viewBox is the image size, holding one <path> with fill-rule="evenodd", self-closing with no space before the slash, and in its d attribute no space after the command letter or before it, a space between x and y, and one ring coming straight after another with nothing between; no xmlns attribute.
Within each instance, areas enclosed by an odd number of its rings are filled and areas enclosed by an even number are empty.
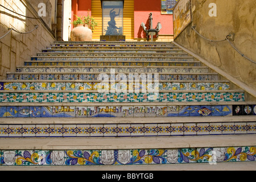
<svg viewBox="0 0 256 182"><path fill-rule="evenodd" d="M0 138L0 150L131 150L256 146L256 135L133 138Z"/></svg>

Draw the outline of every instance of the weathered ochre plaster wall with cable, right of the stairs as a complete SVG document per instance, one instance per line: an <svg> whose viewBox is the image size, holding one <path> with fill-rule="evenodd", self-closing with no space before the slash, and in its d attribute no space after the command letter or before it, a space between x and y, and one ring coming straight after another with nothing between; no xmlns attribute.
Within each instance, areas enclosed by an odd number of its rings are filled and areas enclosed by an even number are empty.
<svg viewBox="0 0 256 182"><path fill-rule="evenodd" d="M210 3L216 3L217 16L210 17ZM192 0L192 20L175 42L200 55L229 75L256 90L256 64L242 57L228 42L213 43L200 38L196 30L212 40L225 39L233 32L233 44L256 61L256 1L251 0Z"/></svg>

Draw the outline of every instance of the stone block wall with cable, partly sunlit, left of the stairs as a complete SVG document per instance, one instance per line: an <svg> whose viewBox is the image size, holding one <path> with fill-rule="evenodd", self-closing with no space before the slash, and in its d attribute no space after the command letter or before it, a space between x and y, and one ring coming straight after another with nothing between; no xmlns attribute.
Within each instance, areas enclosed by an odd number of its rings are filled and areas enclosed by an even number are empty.
<svg viewBox="0 0 256 182"><path fill-rule="evenodd" d="M0 4L21 15L39 18L37 11L27 1L0 0ZM47 19L47 16L44 19ZM24 61L30 60L31 56L42 52L43 48L55 41L55 36L42 19L26 18L0 7L0 37L5 35L9 28L29 32L35 28L35 24L39 27L30 34L11 31L0 39L0 79L5 79L7 72L15 72L17 65L23 65Z"/></svg>

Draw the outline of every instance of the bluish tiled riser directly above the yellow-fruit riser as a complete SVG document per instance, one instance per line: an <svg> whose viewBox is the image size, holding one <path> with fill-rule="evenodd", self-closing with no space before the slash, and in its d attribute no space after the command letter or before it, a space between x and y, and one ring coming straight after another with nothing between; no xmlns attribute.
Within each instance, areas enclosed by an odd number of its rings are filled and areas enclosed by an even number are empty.
<svg viewBox="0 0 256 182"><path fill-rule="evenodd" d="M141 75L141 73L138 73ZM218 80L218 75L215 73L158 73L159 80ZM108 73L106 73L108 75ZM110 75L108 75L110 78ZM127 78L129 75L126 75ZM152 73L154 76L154 73ZM82 74L82 73L9 73L7 74L7 80L97 80L99 74ZM147 78L147 74L146 74ZM154 78L154 77L152 77ZM117 79L118 80L118 79Z"/></svg>

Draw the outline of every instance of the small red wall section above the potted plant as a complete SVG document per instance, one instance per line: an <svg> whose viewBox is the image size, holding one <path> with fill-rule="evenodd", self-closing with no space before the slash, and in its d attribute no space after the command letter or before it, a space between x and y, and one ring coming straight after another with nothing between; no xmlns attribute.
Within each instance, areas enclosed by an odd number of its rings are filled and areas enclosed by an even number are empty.
<svg viewBox="0 0 256 182"><path fill-rule="evenodd" d="M72 0L72 22L76 19L76 16L87 16L91 15L92 1L90 0ZM73 28L73 24L72 24Z"/></svg>

